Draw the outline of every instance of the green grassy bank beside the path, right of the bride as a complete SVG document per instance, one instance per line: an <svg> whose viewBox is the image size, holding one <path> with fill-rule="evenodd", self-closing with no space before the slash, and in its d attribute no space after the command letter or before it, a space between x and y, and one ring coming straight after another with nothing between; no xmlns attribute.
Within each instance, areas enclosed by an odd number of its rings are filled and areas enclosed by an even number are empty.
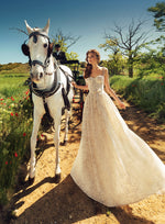
<svg viewBox="0 0 165 224"><path fill-rule="evenodd" d="M153 115L157 122L165 122L165 78L145 77L143 79L113 76L111 87L128 101Z"/></svg>

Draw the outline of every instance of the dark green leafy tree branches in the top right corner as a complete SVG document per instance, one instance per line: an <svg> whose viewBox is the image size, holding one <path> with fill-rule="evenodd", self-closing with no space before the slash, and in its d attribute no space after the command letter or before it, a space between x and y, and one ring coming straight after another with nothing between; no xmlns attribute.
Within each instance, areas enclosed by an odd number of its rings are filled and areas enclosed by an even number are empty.
<svg viewBox="0 0 165 224"><path fill-rule="evenodd" d="M154 25L158 31L165 31L165 1L157 2L155 7L147 9L154 15Z"/></svg>

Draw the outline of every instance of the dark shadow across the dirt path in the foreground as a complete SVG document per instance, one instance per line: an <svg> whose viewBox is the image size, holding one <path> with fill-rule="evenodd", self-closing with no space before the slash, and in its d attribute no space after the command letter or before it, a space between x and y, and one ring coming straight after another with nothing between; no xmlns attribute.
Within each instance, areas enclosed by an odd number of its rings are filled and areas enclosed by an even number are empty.
<svg viewBox="0 0 165 224"><path fill-rule="evenodd" d="M19 209L19 206L23 204L23 201L19 204L16 203L21 198L30 194L41 184L52 181L52 178L45 178L37 184L28 189L25 189L24 186L24 189L22 189L23 191L13 198L14 208ZM131 211L128 211L128 209L107 208L89 199L74 183L70 176L67 176L64 181L26 209L16 220L12 221L12 223L70 224L98 214L107 215L107 221L110 221L110 216L113 215L119 223L122 224L154 224L145 219L134 216Z"/></svg>

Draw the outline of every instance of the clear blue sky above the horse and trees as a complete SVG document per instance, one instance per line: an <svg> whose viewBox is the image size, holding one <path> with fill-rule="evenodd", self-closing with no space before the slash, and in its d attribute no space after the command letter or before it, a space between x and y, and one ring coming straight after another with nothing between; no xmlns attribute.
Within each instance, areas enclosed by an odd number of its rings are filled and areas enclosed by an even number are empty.
<svg viewBox="0 0 165 224"><path fill-rule="evenodd" d="M162 1L162 0L160 0ZM144 30L150 37L157 35L153 26L154 18L147 12L157 0L4 0L0 7L0 64L26 63L21 52L22 43L28 36L13 29L25 30L24 20L31 27L44 27L50 18L50 37L57 30L67 35L80 36L69 52L78 54L85 60L86 52L96 48L101 59L108 58L108 52L99 48L105 43L105 32L111 34L114 23L127 27L132 19L145 20ZM152 38L152 40L153 40Z"/></svg>

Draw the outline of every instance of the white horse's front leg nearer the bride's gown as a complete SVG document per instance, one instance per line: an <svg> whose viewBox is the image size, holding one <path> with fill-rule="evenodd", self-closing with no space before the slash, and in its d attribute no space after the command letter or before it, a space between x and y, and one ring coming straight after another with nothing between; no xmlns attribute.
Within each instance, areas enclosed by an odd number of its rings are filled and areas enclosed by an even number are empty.
<svg viewBox="0 0 165 224"><path fill-rule="evenodd" d="M59 155L58 155L61 119L62 119L61 114L56 115L56 117L54 119L54 121L55 121L54 144L55 144L55 148L56 148L55 182L59 182L61 181L61 167L59 167Z"/></svg>

